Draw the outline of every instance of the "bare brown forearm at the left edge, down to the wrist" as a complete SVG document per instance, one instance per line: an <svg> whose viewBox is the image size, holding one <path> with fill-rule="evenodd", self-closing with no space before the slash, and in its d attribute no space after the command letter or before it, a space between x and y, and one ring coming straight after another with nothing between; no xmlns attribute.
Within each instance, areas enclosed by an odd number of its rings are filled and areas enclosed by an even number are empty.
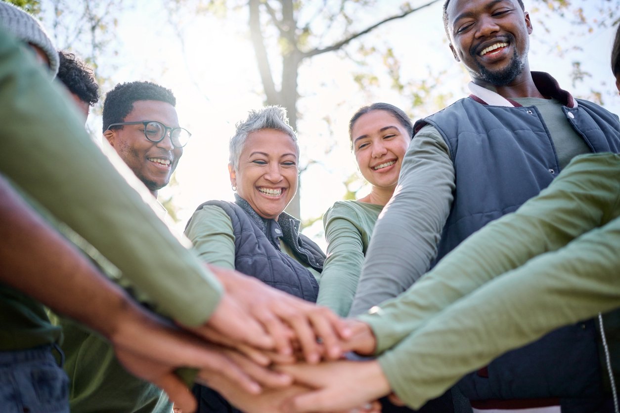
<svg viewBox="0 0 620 413"><path fill-rule="evenodd" d="M113 336L133 306L120 287L53 230L0 177L0 280L60 314Z"/></svg>

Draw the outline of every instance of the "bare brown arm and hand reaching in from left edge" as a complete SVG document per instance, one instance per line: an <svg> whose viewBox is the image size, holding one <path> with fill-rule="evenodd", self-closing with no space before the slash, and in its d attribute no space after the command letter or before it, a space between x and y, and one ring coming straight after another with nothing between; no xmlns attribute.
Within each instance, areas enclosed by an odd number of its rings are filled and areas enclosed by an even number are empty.
<svg viewBox="0 0 620 413"><path fill-rule="evenodd" d="M105 336L125 368L152 381L187 411L195 402L175 368L227 376L260 391L223 349L198 341L148 313L51 229L0 175L0 282ZM50 286L53 285L53 288Z"/></svg>

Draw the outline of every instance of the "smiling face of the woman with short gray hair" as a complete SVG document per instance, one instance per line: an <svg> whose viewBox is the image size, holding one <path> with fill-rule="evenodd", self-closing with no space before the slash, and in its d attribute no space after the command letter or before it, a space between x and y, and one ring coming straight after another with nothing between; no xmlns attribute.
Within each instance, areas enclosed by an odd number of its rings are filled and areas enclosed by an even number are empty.
<svg viewBox="0 0 620 413"><path fill-rule="evenodd" d="M262 129L248 134L237 170L229 165L231 184L252 209L278 219L297 191L297 148L288 134Z"/></svg>

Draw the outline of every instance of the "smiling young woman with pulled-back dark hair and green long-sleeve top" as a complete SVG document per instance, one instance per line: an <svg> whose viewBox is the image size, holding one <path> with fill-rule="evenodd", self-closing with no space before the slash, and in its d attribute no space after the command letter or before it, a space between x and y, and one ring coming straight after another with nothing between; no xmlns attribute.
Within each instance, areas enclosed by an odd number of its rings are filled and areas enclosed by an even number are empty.
<svg viewBox="0 0 620 413"><path fill-rule="evenodd" d="M348 315L374 223L396 189L412 133L409 117L388 103L363 107L349 122L353 154L372 188L363 198L336 202L323 216L327 260L317 303L340 316Z"/></svg>

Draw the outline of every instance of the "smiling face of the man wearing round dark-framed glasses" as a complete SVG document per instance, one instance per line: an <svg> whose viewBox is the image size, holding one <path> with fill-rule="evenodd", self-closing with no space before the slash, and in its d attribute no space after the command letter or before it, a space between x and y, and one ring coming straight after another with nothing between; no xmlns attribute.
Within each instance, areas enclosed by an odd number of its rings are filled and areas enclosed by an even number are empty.
<svg viewBox="0 0 620 413"><path fill-rule="evenodd" d="M133 110L123 122L158 121L171 128L179 127L179 118L174 106L159 100L137 100ZM144 125L125 125L108 129L105 138L114 147L133 173L157 196L157 191L168 185L170 175L183 155L183 148L172 146L170 137L151 142L144 136Z"/></svg>

